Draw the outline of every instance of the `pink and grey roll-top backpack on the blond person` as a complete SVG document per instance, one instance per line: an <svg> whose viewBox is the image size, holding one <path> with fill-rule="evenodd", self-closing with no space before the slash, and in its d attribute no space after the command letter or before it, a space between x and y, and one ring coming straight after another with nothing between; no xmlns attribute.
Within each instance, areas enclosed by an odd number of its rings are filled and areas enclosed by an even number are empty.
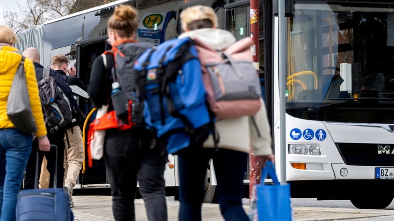
<svg viewBox="0 0 394 221"><path fill-rule="evenodd" d="M253 65L250 38L217 51L195 38L210 110L217 119L250 116L262 105L260 81Z"/></svg>

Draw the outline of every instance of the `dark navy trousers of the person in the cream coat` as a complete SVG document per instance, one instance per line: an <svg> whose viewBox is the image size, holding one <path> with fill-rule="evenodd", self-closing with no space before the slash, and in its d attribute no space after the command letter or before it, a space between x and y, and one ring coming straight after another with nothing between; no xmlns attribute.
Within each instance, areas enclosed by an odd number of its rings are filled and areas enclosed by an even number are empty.
<svg viewBox="0 0 394 221"><path fill-rule="evenodd" d="M242 208L243 179L248 154L244 152L201 145L190 146L178 153L179 221L200 221L204 198L204 179L212 158L217 180L216 193L223 218L226 221L249 221Z"/></svg>

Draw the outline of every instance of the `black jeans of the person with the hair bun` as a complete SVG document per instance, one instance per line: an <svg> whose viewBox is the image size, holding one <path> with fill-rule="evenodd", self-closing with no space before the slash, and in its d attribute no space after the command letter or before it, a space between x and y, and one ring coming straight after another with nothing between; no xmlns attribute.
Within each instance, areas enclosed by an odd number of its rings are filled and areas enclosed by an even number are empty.
<svg viewBox="0 0 394 221"><path fill-rule="evenodd" d="M148 219L167 220L164 170L168 154L162 144L150 148L151 140L144 132L106 132L104 162L116 221L135 220L137 181Z"/></svg>

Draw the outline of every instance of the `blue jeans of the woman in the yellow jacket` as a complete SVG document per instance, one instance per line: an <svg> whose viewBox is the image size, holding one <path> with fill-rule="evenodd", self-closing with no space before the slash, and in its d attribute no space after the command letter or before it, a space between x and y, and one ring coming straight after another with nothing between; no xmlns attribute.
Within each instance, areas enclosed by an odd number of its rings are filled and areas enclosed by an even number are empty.
<svg viewBox="0 0 394 221"><path fill-rule="evenodd" d="M33 136L15 128L0 129L0 220L15 220L17 195L30 155Z"/></svg>

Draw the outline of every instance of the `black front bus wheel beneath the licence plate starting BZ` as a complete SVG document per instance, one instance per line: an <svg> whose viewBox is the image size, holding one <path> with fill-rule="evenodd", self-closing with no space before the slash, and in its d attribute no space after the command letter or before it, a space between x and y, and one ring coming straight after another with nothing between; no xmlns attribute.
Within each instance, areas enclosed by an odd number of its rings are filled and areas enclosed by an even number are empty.
<svg viewBox="0 0 394 221"><path fill-rule="evenodd" d="M362 195L356 196L350 201L359 209L384 209L389 206L394 196L388 195Z"/></svg>

